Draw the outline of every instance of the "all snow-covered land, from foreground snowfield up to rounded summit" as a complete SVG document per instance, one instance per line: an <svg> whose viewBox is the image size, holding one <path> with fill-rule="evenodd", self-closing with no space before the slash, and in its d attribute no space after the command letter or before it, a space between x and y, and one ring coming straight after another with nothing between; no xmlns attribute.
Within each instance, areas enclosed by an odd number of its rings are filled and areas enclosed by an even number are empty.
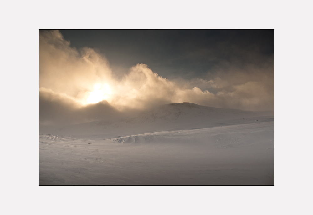
<svg viewBox="0 0 313 215"><path fill-rule="evenodd" d="M39 133L39 185L274 185L273 112L174 103Z"/></svg>

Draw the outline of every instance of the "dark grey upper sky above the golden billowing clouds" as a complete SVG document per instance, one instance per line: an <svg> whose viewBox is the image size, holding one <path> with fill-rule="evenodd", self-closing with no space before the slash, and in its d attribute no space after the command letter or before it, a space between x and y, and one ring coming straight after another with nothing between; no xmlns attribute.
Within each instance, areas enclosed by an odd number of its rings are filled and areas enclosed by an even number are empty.
<svg viewBox="0 0 313 215"><path fill-rule="evenodd" d="M115 72L144 63L162 77L205 78L217 70L274 63L271 30L61 30L71 46L104 53Z"/></svg>

